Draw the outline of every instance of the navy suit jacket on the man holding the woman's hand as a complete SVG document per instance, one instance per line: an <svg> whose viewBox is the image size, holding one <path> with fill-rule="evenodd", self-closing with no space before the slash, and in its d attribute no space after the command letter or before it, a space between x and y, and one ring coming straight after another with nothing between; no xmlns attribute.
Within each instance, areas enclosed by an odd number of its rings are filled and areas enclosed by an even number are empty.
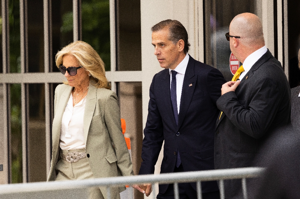
<svg viewBox="0 0 300 199"><path fill-rule="evenodd" d="M155 74L150 86L143 162L139 174L154 173L163 141L161 173L174 171L177 149L184 171L214 169L214 127L219 113L216 101L225 82L220 71L190 56L184 75L177 126L170 95L169 69ZM179 136L176 136L177 132ZM195 184L192 186L196 189ZM160 185L159 192L164 193L167 187ZM215 182L205 182L202 188L203 192L218 190Z"/></svg>

